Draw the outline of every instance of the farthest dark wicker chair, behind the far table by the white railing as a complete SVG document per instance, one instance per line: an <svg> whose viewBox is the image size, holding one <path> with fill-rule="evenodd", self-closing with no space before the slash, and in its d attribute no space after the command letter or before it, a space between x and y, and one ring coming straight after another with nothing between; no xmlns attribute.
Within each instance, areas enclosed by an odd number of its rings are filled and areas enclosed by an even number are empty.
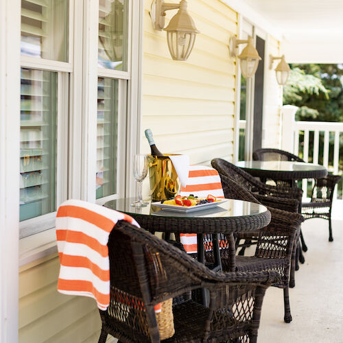
<svg viewBox="0 0 343 343"><path fill-rule="evenodd" d="M277 149L259 149L254 152L252 158L255 161L298 161L305 162L302 158ZM331 226L331 211L333 191L335 185L340 182L342 176L328 174L325 178L317 178L312 189L311 201L302 203L301 213L305 220L310 218L323 218L329 220L329 241L333 241L332 226ZM279 182L278 180L274 180ZM307 247L302 239L303 250Z"/></svg>

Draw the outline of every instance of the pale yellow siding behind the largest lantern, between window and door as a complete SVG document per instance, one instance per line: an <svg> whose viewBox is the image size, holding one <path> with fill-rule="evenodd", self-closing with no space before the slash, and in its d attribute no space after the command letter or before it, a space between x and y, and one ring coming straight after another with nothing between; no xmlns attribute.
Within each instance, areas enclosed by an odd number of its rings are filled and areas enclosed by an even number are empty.
<svg viewBox="0 0 343 343"><path fill-rule="evenodd" d="M189 1L200 34L180 62L169 55L166 32L152 28L150 5L145 0L142 132L151 128L161 152L188 154L192 164L232 159L236 67L228 39L237 34L237 13L219 0ZM174 14L167 11L166 25ZM144 135L141 143L149 152Z"/></svg>

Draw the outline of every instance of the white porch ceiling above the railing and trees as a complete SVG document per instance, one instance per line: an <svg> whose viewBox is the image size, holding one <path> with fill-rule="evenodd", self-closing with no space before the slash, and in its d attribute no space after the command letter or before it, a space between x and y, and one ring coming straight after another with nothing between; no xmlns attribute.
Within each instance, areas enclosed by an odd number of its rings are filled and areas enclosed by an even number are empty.
<svg viewBox="0 0 343 343"><path fill-rule="evenodd" d="M343 62L342 0L242 2L251 9L250 21L256 23L254 14L263 18L269 27L274 28L275 34L283 38L282 49L288 62ZM245 15L244 12L241 14Z"/></svg>

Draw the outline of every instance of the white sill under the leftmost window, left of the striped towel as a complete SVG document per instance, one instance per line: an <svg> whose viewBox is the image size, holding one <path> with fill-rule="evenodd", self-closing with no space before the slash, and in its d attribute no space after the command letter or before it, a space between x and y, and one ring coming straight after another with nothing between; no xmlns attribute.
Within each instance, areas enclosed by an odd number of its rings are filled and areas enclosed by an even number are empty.
<svg viewBox="0 0 343 343"><path fill-rule="evenodd" d="M35 261L38 264L38 260L49 255L57 256L55 228L19 239L19 267Z"/></svg>

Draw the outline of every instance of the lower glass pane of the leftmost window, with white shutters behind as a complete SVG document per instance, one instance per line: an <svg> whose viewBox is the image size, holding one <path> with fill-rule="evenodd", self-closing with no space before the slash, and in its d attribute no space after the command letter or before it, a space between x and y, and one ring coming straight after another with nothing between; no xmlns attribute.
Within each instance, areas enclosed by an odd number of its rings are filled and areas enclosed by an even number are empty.
<svg viewBox="0 0 343 343"><path fill-rule="evenodd" d="M20 220L56 210L57 73L21 69Z"/></svg>

